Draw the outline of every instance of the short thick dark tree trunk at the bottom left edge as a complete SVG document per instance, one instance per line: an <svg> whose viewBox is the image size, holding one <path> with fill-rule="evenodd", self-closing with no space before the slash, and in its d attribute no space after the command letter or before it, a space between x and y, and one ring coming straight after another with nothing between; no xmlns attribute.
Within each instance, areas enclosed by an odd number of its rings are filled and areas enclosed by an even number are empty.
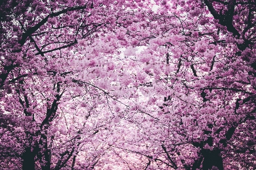
<svg viewBox="0 0 256 170"><path fill-rule="evenodd" d="M34 170L35 169L35 155L31 152L31 148L25 148L25 152L22 154L22 170Z"/></svg>

